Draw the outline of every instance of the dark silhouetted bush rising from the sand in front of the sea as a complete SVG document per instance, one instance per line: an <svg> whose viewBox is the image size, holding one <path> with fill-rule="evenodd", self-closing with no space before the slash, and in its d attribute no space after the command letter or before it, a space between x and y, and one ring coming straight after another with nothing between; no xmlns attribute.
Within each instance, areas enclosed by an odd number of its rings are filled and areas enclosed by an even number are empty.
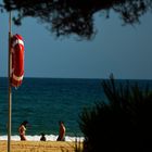
<svg viewBox="0 0 152 152"><path fill-rule="evenodd" d="M152 151L152 93L148 87L102 83L110 103L96 104L80 114L84 152Z"/></svg>

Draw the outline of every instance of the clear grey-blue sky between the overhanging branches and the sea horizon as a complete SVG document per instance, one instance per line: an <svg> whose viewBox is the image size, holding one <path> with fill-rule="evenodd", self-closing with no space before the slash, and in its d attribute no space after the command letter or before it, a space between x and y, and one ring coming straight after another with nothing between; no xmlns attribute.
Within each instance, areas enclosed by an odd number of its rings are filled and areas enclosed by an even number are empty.
<svg viewBox="0 0 152 152"><path fill-rule="evenodd" d="M12 12L14 15L15 12ZM94 14L97 35L91 40L77 36L56 38L37 18L22 26L12 23L25 45L25 77L152 79L152 13L140 24L123 26L118 14L105 18ZM9 14L0 13L0 77L8 76Z"/></svg>

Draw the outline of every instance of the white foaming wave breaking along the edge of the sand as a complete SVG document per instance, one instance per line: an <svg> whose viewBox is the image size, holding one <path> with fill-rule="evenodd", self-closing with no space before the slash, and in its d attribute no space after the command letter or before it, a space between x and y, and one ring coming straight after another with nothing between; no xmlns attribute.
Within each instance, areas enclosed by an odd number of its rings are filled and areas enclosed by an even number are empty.
<svg viewBox="0 0 152 152"><path fill-rule="evenodd" d="M38 135L35 135L35 136L29 136L27 135L26 136L27 140L28 141L39 141L40 140L40 136ZM55 135L46 135L46 138L47 138L47 141L56 141L56 138L58 136ZM0 136L0 140L8 140L8 136L4 135L4 136ZM17 135L14 135L14 136L11 136L11 140L14 140L14 141L20 141L20 136ZM65 137L65 141L84 141L84 137L71 137L71 136L66 136Z"/></svg>

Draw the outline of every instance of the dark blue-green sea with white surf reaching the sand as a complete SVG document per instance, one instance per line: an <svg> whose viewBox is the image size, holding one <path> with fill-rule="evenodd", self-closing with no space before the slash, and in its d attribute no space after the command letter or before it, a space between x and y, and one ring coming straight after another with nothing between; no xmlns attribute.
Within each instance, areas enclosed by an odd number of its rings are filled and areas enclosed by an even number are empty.
<svg viewBox="0 0 152 152"><path fill-rule="evenodd" d="M47 140L55 141L59 135L59 121L66 128L66 141L84 140L79 128L79 115L85 107L94 103L107 102L103 92L104 79L85 78L24 78L18 88L12 88L12 127L11 139L20 140L18 126L28 121L27 140L38 141L41 132ZM141 88L152 80L126 80L118 83L138 83ZM8 140L9 83L0 77L0 140ZM96 124L94 124L96 125Z"/></svg>

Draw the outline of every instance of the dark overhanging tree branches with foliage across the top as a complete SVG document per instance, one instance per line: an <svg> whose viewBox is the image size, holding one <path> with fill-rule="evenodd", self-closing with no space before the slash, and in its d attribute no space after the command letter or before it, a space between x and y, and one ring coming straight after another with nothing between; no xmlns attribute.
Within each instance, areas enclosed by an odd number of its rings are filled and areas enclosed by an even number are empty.
<svg viewBox="0 0 152 152"><path fill-rule="evenodd" d="M3 0L0 7L17 11L18 15L13 18L16 25L31 16L48 23L48 28L56 36L76 34L90 39L94 34L94 13L101 11L109 17L113 10L125 24L134 24L152 9L152 0Z"/></svg>

